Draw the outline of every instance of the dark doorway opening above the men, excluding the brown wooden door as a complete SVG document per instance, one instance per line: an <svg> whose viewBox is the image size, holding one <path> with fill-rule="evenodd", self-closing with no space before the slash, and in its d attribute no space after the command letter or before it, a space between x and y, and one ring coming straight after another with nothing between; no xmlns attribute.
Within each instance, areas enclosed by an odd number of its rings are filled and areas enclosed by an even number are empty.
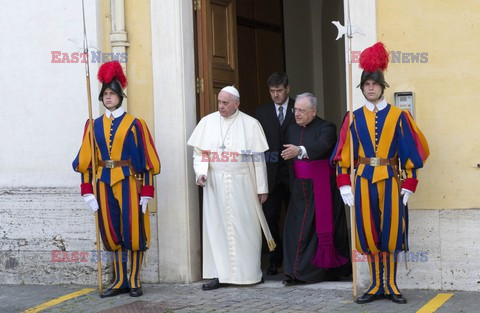
<svg viewBox="0 0 480 313"><path fill-rule="evenodd" d="M267 79L286 72L290 96L313 93L319 115L337 127L346 113L345 45L336 41L342 0L236 2L241 110L254 115L271 101Z"/></svg>

